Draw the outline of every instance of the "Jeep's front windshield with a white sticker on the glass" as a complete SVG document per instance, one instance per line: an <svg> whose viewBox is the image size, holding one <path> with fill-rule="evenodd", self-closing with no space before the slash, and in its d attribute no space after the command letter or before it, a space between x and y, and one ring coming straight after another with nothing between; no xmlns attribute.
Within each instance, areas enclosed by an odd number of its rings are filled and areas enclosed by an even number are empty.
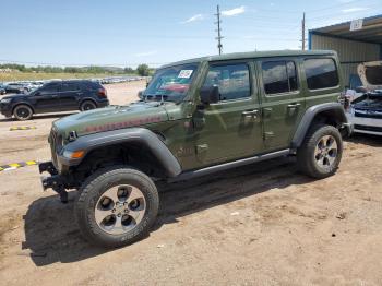
<svg viewBox="0 0 382 286"><path fill-rule="evenodd" d="M181 100L190 88L198 63L189 63L158 70L144 92L148 100Z"/></svg>

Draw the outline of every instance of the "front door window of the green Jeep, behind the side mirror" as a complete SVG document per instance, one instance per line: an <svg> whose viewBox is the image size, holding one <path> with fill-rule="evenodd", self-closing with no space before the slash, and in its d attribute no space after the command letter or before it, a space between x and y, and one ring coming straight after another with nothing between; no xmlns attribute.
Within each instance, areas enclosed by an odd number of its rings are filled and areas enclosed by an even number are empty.
<svg viewBox="0 0 382 286"><path fill-rule="evenodd" d="M251 88L248 65L240 63L211 67L204 86L213 85L219 88L219 100L250 97Z"/></svg>

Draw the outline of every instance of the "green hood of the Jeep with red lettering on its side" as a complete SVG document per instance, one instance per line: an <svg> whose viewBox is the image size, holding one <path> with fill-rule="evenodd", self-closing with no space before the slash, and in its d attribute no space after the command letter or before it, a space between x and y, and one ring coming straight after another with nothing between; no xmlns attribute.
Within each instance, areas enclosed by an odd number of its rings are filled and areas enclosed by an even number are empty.
<svg viewBox="0 0 382 286"><path fill-rule="evenodd" d="M145 126L168 120L166 103L138 102L127 106L110 106L64 117L53 122L53 128L68 138L75 131L77 136L109 130Z"/></svg>

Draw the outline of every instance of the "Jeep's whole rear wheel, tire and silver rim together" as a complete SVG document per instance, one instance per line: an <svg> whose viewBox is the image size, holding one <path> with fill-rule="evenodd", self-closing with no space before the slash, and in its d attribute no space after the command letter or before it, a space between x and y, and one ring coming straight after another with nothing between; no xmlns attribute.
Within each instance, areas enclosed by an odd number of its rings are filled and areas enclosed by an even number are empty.
<svg viewBox="0 0 382 286"><path fill-rule="evenodd" d="M326 178L334 175L343 154L339 131L326 124L313 126L302 145L297 151L300 171L312 178Z"/></svg>

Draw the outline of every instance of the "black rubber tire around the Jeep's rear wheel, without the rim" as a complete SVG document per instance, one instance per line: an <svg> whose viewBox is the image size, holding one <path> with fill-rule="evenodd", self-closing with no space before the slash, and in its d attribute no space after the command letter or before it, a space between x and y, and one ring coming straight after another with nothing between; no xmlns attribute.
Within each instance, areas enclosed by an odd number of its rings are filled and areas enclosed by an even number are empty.
<svg viewBox="0 0 382 286"><path fill-rule="evenodd" d="M320 158L322 155L315 155L317 147L319 147L319 144L323 142L322 140L324 138L334 140L336 144L335 158L333 159L333 163L326 167L320 166L320 163L318 163L318 158ZM343 141L339 131L332 126L314 124L310 128L301 146L297 150L298 168L301 172L306 174L309 177L323 179L336 172L342 158L342 154Z"/></svg>

